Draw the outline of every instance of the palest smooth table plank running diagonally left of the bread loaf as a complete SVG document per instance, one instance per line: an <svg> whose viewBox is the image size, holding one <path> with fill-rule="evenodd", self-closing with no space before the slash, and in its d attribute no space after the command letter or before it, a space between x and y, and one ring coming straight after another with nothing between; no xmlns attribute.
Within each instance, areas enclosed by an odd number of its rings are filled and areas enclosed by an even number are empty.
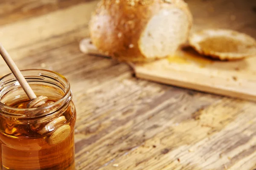
<svg viewBox="0 0 256 170"><path fill-rule="evenodd" d="M11 50L86 26L90 20L91 8L94 8L96 4L97 1L82 3L50 14L1 26L1 42L7 50Z"/></svg>

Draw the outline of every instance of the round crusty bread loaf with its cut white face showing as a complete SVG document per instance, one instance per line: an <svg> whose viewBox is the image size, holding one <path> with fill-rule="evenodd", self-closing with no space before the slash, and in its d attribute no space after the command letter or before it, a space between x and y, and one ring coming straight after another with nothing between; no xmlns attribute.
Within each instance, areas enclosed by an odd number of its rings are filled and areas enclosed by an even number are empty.
<svg viewBox="0 0 256 170"><path fill-rule="evenodd" d="M102 0L89 23L99 51L130 62L173 54L187 41L191 26L183 0Z"/></svg>

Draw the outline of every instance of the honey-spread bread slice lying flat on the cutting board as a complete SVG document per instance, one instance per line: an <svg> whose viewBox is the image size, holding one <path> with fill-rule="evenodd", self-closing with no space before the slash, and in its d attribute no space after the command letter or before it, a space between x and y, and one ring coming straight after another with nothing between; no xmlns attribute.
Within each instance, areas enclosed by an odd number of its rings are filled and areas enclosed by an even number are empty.
<svg viewBox="0 0 256 170"><path fill-rule="evenodd" d="M198 53L220 60L236 60L256 56L256 40L230 29L206 29L189 37Z"/></svg>

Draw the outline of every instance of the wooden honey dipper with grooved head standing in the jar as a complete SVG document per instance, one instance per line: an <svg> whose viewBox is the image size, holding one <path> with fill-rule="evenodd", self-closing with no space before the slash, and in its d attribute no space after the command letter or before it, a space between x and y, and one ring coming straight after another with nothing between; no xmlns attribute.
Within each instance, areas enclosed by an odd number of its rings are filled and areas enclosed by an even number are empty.
<svg viewBox="0 0 256 170"><path fill-rule="evenodd" d="M5 48L3 48L3 45L0 43L0 54L5 60L6 64L12 71L13 75L16 77L18 82L20 83L20 86L25 91L26 95L29 97L31 102L27 105L26 108L44 108L47 105L51 105L54 102L49 101L47 96L36 96L32 88L29 86L29 83L26 81L26 79L21 74L20 70L17 68L17 65L12 60L8 52ZM71 128L70 125L62 125L64 122L66 122L67 119L65 116L60 116L58 118L53 119L51 122L49 122L46 126L44 126L42 129L38 130L37 132L41 135L49 132L49 130L56 128L55 132L53 132L48 139L49 144L57 144L64 139L68 137L70 134ZM62 126L61 126L62 125ZM40 127L40 124L35 125Z"/></svg>

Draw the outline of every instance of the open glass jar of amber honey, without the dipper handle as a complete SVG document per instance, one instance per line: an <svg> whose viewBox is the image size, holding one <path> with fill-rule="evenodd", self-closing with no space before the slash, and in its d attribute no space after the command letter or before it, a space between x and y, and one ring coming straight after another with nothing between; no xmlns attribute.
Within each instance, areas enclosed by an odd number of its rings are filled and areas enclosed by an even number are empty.
<svg viewBox="0 0 256 170"><path fill-rule="evenodd" d="M36 96L48 104L27 108L30 100L13 74L0 79L0 169L75 170L76 108L70 83L53 71L21 71Z"/></svg>

